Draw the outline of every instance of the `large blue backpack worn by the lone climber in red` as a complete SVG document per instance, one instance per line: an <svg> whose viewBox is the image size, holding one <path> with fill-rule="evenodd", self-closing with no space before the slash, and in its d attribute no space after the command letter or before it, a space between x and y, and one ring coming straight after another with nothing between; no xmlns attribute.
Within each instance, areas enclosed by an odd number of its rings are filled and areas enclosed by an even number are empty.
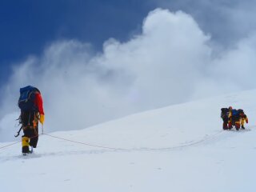
<svg viewBox="0 0 256 192"><path fill-rule="evenodd" d="M22 111L37 111L38 107L34 104L35 91L39 91L34 86L25 86L19 90L18 107Z"/></svg>

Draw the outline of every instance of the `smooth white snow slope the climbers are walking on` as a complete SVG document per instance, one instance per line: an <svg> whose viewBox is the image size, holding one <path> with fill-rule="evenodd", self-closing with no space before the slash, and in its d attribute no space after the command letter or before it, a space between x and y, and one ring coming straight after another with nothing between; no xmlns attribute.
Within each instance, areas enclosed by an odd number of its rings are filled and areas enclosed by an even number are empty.
<svg viewBox="0 0 256 192"><path fill-rule="evenodd" d="M85 130L44 127L38 148L25 157L20 143L0 143L1 191L256 191L254 98L249 90ZM246 130L222 130L225 106L245 110Z"/></svg>

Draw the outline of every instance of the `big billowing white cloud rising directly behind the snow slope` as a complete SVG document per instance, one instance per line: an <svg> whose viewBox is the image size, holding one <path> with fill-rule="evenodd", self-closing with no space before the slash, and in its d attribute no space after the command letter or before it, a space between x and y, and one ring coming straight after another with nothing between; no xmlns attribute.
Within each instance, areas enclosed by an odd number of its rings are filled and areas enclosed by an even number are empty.
<svg viewBox="0 0 256 192"><path fill-rule="evenodd" d="M111 38L102 53L66 40L15 66L0 115L18 111L18 89L26 85L42 91L46 131L82 129L141 110L246 89L253 83L244 81L242 73L242 80L234 81L234 75L241 69L254 78L254 48L247 39L213 56L210 36L189 14L157 9L145 18L142 34L124 43ZM246 67L240 68L245 60Z"/></svg>

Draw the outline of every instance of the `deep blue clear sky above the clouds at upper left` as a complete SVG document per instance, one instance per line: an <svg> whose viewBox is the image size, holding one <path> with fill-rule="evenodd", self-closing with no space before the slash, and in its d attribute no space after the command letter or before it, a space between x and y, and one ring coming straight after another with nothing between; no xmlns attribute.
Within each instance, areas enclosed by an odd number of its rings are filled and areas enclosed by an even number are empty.
<svg viewBox="0 0 256 192"><path fill-rule="evenodd" d="M90 42L95 50L114 37L125 41L140 30L154 3L126 0L62 0L0 2L0 81L10 65L42 50L58 39Z"/></svg>

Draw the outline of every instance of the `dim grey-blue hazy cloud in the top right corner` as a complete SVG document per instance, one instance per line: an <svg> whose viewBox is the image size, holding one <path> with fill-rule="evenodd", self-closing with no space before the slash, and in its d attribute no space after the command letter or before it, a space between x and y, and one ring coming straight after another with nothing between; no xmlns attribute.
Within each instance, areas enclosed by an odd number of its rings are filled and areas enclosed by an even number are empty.
<svg viewBox="0 0 256 192"><path fill-rule="evenodd" d="M156 6L172 11L183 10L192 15L202 30L210 33L220 46L234 46L256 30L253 0L151 0Z"/></svg>

